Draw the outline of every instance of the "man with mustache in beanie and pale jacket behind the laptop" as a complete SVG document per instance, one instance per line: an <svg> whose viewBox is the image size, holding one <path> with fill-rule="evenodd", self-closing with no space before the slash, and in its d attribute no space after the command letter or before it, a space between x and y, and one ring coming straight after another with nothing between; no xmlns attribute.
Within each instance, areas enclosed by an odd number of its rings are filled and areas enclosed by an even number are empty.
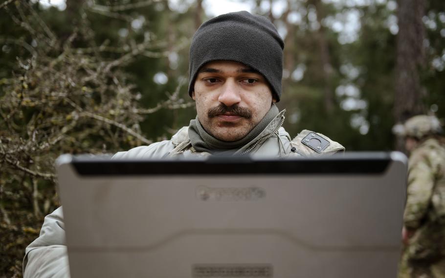
<svg viewBox="0 0 445 278"><path fill-rule="evenodd" d="M119 152L113 158L140 159L207 155L320 156L344 147L303 130L291 139L282 127L284 43L265 17L246 11L203 23L190 46L188 93L197 117L172 139ZM45 217L40 237L26 248L24 277L67 277L62 208Z"/></svg>

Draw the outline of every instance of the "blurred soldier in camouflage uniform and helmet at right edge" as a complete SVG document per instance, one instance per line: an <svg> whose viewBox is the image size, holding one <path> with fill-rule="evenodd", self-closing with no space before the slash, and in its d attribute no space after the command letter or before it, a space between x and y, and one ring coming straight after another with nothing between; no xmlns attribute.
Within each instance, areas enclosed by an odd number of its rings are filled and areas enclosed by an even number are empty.
<svg viewBox="0 0 445 278"><path fill-rule="evenodd" d="M400 130L410 152L400 277L445 278L445 139L435 116Z"/></svg>

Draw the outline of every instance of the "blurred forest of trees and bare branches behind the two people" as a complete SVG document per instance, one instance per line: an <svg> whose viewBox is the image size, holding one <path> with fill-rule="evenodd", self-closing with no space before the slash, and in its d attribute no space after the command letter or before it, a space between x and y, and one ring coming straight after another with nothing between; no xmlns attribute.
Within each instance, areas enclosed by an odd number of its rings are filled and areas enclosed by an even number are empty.
<svg viewBox="0 0 445 278"><path fill-rule="evenodd" d="M402 150L395 123L445 116L443 0L48 2L0 1L0 277L22 276L25 247L60 205L60 154L169 139L196 116L189 45L217 14L247 9L277 26L292 136Z"/></svg>

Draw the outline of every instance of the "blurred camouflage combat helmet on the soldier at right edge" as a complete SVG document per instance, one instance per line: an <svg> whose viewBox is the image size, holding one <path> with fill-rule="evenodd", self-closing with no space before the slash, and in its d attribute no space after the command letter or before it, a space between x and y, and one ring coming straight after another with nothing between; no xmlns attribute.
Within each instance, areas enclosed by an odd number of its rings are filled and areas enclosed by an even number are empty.
<svg viewBox="0 0 445 278"><path fill-rule="evenodd" d="M422 139L427 135L442 134L441 122L436 116L418 115L413 116L393 129L394 133L403 137L414 137Z"/></svg>

